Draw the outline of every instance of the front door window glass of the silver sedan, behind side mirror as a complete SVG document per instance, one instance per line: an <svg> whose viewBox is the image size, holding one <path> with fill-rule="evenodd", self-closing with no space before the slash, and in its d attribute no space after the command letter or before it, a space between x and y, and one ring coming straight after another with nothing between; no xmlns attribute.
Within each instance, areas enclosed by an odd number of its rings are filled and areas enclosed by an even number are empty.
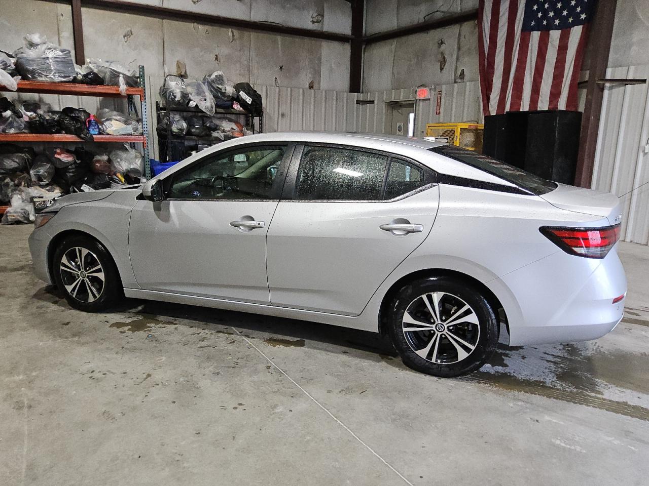
<svg viewBox="0 0 649 486"><path fill-rule="evenodd" d="M285 151L286 146L254 146L208 156L173 178L167 198L273 199Z"/></svg>

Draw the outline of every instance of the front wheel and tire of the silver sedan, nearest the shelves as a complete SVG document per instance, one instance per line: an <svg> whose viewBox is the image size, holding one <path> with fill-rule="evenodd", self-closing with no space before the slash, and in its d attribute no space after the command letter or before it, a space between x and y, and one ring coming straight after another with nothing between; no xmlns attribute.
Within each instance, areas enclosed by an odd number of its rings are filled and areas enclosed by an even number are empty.
<svg viewBox="0 0 649 486"><path fill-rule="evenodd" d="M75 309L101 312L123 296L114 260L101 243L90 237L65 238L54 253L52 274L58 290Z"/></svg>

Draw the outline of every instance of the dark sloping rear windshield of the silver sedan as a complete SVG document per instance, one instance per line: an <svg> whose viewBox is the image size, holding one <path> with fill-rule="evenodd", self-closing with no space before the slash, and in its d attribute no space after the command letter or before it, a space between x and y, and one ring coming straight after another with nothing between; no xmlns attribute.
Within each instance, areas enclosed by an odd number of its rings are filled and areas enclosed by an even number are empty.
<svg viewBox="0 0 649 486"><path fill-rule="evenodd" d="M535 176L522 168L514 167L513 165L506 164L489 156L478 154L472 150L461 148L455 145L441 145L434 148L429 148L431 152L440 154L451 159L463 162L471 167L479 168L489 174L504 179L512 184L517 185L522 189L541 196L550 191L557 189L557 184L552 181L546 181L539 176Z"/></svg>

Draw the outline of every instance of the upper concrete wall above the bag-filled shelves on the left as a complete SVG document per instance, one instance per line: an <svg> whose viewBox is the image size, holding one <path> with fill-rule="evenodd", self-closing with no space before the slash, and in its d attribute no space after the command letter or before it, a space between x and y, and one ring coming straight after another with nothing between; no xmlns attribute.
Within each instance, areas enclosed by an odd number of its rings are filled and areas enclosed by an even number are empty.
<svg viewBox="0 0 649 486"><path fill-rule="evenodd" d="M137 1L137 0L132 0ZM272 3L267 0L139 0L221 16L283 23L302 29L350 32L350 4L345 0ZM0 49L14 51L31 32L73 50L67 5L37 0L0 0ZM223 71L234 82L347 91L349 43L311 40L166 21L93 8L82 8L86 58L145 65L150 75L174 73L176 61L191 78Z"/></svg>

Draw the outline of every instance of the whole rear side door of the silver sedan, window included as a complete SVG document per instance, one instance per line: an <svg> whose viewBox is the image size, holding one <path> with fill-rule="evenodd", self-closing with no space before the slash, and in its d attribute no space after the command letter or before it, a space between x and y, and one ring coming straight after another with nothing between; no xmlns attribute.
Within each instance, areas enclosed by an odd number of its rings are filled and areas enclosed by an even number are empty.
<svg viewBox="0 0 649 486"><path fill-rule="evenodd" d="M360 314L424 241L438 203L434 172L414 161L299 146L267 237L271 303Z"/></svg>

